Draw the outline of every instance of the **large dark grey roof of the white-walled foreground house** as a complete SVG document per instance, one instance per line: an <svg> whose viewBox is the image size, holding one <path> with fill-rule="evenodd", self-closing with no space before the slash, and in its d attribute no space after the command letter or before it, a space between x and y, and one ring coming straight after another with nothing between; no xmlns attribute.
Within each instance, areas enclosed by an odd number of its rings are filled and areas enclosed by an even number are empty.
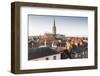
<svg viewBox="0 0 100 76"><path fill-rule="evenodd" d="M45 57L45 56L49 56L49 55L53 55L57 53L59 52L49 47L29 48L28 49L28 60Z"/></svg>

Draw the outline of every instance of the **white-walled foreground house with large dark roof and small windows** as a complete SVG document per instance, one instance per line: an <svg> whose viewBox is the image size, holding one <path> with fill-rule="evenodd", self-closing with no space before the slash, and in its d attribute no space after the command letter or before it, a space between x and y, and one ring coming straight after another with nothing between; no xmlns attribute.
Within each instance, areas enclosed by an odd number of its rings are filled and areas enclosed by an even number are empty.
<svg viewBox="0 0 100 76"><path fill-rule="evenodd" d="M59 60L61 54L49 47L29 48L28 60Z"/></svg>

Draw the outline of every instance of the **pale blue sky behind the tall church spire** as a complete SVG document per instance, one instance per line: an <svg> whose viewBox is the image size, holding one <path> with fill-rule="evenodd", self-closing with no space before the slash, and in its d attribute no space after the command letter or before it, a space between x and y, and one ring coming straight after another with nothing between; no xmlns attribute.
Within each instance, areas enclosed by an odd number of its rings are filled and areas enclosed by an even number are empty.
<svg viewBox="0 0 100 76"><path fill-rule="evenodd" d="M54 19L57 34L88 36L88 17L29 15L28 19L29 36L52 33Z"/></svg>

